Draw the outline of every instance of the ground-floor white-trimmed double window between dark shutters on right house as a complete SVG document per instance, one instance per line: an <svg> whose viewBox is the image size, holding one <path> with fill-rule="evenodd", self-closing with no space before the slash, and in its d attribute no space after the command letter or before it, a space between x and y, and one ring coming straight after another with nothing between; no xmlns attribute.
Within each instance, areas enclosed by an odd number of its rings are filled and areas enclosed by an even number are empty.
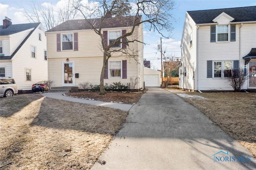
<svg viewBox="0 0 256 170"><path fill-rule="evenodd" d="M213 70L213 77L228 77L231 74L232 61L214 61Z"/></svg>

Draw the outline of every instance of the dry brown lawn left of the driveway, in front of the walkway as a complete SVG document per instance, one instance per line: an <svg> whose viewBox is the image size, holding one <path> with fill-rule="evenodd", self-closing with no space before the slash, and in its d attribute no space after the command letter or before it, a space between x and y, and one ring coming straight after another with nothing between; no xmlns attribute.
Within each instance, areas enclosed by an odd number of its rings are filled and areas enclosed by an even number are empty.
<svg viewBox="0 0 256 170"><path fill-rule="evenodd" d="M0 104L0 166L12 162L2 169L90 168L128 113L40 94L1 98Z"/></svg>

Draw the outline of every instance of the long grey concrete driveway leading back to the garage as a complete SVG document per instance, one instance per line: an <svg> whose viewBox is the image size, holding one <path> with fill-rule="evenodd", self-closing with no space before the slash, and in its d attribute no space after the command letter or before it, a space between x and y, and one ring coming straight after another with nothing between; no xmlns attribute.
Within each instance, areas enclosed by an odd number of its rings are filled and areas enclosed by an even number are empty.
<svg viewBox="0 0 256 170"><path fill-rule="evenodd" d="M237 156L251 156L241 144L215 126L196 107L177 95L150 88L132 107L118 132L92 169L253 169ZM215 162L213 154L227 160ZM222 160L223 160L222 158Z"/></svg>

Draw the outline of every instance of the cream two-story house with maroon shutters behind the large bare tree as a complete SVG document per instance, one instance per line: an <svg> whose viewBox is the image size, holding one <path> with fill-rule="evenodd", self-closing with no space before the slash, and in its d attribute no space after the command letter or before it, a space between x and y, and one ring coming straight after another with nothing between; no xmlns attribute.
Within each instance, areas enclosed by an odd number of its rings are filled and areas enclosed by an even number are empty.
<svg viewBox="0 0 256 170"><path fill-rule="evenodd" d="M138 22L140 18L136 19ZM94 25L99 24L100 18L90 19ZM117 37L126 34L131 29L129 24L134 22L134 16L104 20L102 35L107 46ZM144 88L143 77L143 28L137 26L132 34L137 41L128 45L114 44L113 48L123 49L132 53L134 58L128 58L122 53L113 53L105 69L104 83L114 82L136 84L134 89ZM100 84L100 73L103 65L102 42L92 26L85 20L68 20L48 31L48 74L53 80L52 87L80 87L82 83ZM129 37L128 37L129 40ZM124 43L122 43L124 42ZM133 81L133 82L132 82ZM136 81L136 83L135 83Z"/></svg>

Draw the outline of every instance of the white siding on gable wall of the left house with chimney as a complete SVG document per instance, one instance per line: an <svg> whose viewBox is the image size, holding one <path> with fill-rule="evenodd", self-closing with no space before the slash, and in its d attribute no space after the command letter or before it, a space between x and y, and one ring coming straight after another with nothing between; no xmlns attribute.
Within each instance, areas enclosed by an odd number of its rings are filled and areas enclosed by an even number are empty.
<svg viewBox="0 0 256 170"><path fill-rule="evenodd" d="M38 33L42 35L41 41L38 41ZM31 57L31 45L36 47L36 59ZM36 29L12 58L13 69L10 77L15 79L19 90L31 90L33 83L48 79L47 61L44 60L45 49L44 31ZM26 81L25 68L32 70L31 81Z"/></svg>

